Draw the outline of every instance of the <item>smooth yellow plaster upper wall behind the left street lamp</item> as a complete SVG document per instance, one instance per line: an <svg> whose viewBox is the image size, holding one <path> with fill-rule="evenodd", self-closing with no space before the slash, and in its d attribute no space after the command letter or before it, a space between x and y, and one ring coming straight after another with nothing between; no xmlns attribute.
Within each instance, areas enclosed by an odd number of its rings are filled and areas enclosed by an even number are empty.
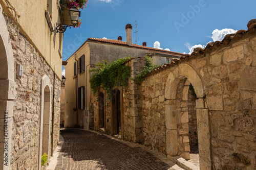
<svg viewBox="0 0 256 170"><path fill-rule="evenodd" d="M48 0L49 1L49 0ZM52 1L52 23L55 29L56 23L60 23L58 12L59 1ZM45 10L47 10L47 0L9 0L11 5L15 8L18 17L19 31L25 35L30 43L36 47L40 53L55 70L58 78L61 78L61 61L59 50L62 54L62 36L63 34L56 33L51 35L48 26ZM5 0L0 0L3 10L8 17L14 16L10 9L7 8ZM49 9L49 7L48 7ZM15 23L16 25L16 23Z"/></svg>

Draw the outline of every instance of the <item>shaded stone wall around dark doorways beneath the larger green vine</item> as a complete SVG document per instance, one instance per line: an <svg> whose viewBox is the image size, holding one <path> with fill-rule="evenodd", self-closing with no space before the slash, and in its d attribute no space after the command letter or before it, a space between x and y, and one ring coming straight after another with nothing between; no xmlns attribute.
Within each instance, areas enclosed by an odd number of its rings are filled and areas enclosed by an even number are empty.
<svg viewBox="0 0 256 170"><path fill-rule="evenodd" d="M129 65L132 68L131 76L139 74L145 65L145 58L133 58L125 65ZM120 110L121 110L121 137L122 139L134 142L143 141L142 131L142 114L140 106L140 89L139 85L133 80L129 80L127 87L114 87L120 91ZM93 96L91 92L91 108L94 108L94 128L97 131L101 131L108 134L114 134L113 129L116 123L115 116L113 116L112 100L109 98L102 88L99 89L99 93L104 95L104 130L99 128L99 101L97 97ZM92 120L91 120L92 121Z"/></svg>

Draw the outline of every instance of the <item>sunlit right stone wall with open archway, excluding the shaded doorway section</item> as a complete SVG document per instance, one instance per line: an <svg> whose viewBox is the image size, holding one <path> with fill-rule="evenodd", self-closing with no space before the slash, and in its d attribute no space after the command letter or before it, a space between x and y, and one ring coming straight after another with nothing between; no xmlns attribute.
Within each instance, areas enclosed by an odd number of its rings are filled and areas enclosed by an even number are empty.
<svg viewBox="0 0 256 170"><path fill-rule="evenodd" d="M165 119L167 154L179 155L181 149L188 146L186 144L187 137L183 137L183 139L179 137L183 133L180 133L181 127L187 128L186 124L179 123L179 117L183 117L181 113L189 109L188 103L184 102L189 99L181 101L183 98L181 94L185 87L180 89L180 83L187 78L193 84L196 93L200 94L196 105L197 118L199 118L197 122L200 165L206 169L210 169L210 167L216 169L255 168L253 154L256 143L254 107L256 79L252 75L256 69L255 39L255 34L243 34L241 39L234 39L229 44L217 46L215 50L197 55L189 60L176 62L173 66L160 67L150 74L141 87L142 89L145 87L145 91L142 91L142 109L145 110L147 116L154 115L152 119L145 116L144 144L152 143L153 146L164 144L164 139L154 140L164 136L155 131L156 126L152 126L151 133L146 132L148 125L155 123L161 125L161 119ZM162 79L166 79L167 76L168 79L165 83ZM157 91L155 89L157 83L161 83L162 89L165 91ZM163 93L165 94L163 95ZM146 94L145 97L144 94ZM166 100L163 106L165 115L161 110L162 107L159 107L163 97ZM145 99L145 105L143 105L143 99ZM175 101L171 101L173 99ZM172 106L172 104L176 105ZM177 116L175 120L166 114L166 112L172 114L172 109ZM162 116L163 118L156 118L159 115L158 112L161 113L158 117ZM186 123L187 118L181 119L181 123ZM181 147L181 143L183 147ZM165 147L155 149L164 154ZM189 150L185 149L184 151ZM188 158L186 155L181 156Z"/></svg>

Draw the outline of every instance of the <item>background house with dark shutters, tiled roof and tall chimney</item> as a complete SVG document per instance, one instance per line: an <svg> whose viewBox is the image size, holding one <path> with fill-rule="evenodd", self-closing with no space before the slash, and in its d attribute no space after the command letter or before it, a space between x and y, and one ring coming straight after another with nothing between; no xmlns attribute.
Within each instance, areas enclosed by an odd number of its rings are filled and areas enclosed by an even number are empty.
<svg viewBox="0 0 256 170"><path fill-rule="evenodd" d="M166 63L180 58L181 53L160 50L132 43L132 26L127 24L126 42L119 36L117 40L88 38L78 50L67 60L65 83L65 127L83 127L89 129L91 109L90 77L88 70L93 64L102 60L113 62L122 57L151 56L155 64ZM76 94L76 95L74 95ZM90 119L90 120L89 120Z"/></svg>

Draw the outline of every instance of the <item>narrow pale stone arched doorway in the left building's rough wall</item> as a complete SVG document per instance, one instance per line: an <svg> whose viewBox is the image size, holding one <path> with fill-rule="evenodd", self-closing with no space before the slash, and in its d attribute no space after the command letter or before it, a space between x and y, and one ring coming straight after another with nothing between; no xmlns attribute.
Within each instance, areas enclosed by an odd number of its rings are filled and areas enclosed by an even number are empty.
<svg viewBox="0 0 256 170"><path fill-rule="evenodd" d="M39 138L39 163L41 167L41 156L50 150L50 123L51 123L51 82L48 76L41 80L41 106L40 106L40 138Z"/></svg>

